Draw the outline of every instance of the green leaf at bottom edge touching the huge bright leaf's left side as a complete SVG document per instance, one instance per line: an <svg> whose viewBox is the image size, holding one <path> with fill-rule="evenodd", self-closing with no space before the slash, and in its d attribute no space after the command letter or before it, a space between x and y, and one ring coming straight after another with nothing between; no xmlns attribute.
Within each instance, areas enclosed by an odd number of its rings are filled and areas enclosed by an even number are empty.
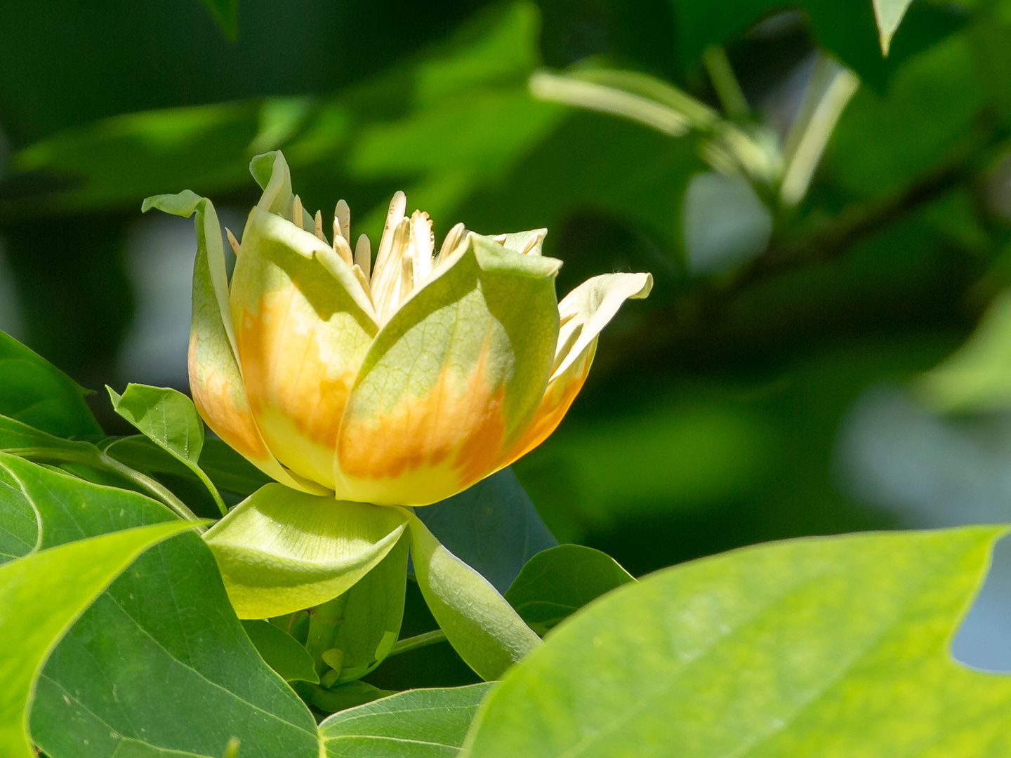
<svg viewBox="0 0 1011 758"><path fill-rule="evenodd" d="M452 758L491 684L411 689L327 719L319 735L330 758Z"/></svg>

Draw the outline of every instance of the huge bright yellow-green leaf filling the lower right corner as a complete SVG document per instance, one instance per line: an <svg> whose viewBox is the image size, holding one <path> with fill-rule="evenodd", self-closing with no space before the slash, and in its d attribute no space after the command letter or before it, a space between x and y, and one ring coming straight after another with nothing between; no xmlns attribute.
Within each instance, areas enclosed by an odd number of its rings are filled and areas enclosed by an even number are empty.
<svg viewBox="0 0 1011 758"><path fill-rule="evenodd" d="M1011 677L948 652L1002 531L811 538L658 572L515 667L464 753L1007 755Z"/></svg>

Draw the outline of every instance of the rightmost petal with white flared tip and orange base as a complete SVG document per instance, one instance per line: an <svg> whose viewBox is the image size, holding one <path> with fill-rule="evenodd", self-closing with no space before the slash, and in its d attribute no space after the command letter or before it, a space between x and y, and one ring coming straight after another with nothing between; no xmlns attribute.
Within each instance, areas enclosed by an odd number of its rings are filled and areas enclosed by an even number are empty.
<svg viewBox="0 0 1011 758"><path fill-rule="evenodd" d="M548 387L523 437L502 459L508 466L555 431L579 394L596 353L596 340L622 303L649 295L649 274L605 274L588 279L558 304L561 328Z"/></svg>

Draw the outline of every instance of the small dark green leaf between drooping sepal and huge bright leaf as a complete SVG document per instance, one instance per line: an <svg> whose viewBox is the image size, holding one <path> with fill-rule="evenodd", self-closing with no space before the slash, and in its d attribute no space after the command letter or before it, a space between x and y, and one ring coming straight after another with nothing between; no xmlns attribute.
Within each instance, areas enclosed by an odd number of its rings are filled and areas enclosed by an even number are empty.
<svg viewBox="0 0 1011 758"><path fill-rule="evenodd" d="M505 591L505 599L542 637L606 592L635 581L607 553L559 545L531 558Z"/></svg>

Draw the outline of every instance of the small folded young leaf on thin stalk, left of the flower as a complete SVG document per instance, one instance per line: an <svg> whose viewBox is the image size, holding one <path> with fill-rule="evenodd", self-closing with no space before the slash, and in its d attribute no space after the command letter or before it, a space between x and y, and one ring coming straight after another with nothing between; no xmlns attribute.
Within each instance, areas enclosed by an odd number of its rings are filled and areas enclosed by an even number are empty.
<svg viewBox="0 0 1011 758"><path fill-rule="evenodd" d="M122 395L111 387L105 389L115 411L192 471L210 492L221 514L226 513L227 508L217 488L200 468L203 421L193 401L182 392L168 387L127 384Z"/></svg>

